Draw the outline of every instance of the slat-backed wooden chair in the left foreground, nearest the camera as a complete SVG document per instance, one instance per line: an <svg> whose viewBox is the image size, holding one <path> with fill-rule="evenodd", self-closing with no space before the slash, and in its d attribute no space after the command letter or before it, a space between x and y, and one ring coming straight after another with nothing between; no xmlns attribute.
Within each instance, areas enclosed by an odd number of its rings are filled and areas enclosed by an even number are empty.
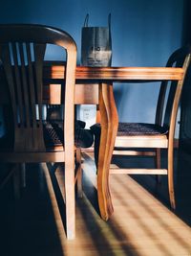
<svg viewBox="0 0 191 256"><path fill-rule="evenodd" d="M43 120L43 61L47 45L66 52L64 131ZM76 45L66 32L41 25L0 25L0 58L8 83L11 133L1 138L0 162L65 162L67 238L74 239L74 84ZM6 105L7 107L7 105ZM49 164L50 166L50 164ZM53 165L51 164L53 167Z"/></svg>

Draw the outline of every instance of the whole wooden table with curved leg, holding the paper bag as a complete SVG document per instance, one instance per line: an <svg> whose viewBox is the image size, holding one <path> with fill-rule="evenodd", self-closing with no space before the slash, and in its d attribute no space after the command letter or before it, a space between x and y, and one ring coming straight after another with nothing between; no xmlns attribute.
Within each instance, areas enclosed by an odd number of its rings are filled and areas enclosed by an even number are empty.
<svg viewBox="0 0 191 256"><path fill-rule="evenodd" d="M56 104L64 65L49 62L44 68L44 90ZM181 68L166 67L76 67L75 104L99 105L101 139L97 170L97 196L101 218L107 221L114 212L109 190L109 168L117 135L117 108L113 82L172 81L182 79ZM59 98L60 99L60 98ZM5 102L5 87L0 86L0 102Z"/></svg>

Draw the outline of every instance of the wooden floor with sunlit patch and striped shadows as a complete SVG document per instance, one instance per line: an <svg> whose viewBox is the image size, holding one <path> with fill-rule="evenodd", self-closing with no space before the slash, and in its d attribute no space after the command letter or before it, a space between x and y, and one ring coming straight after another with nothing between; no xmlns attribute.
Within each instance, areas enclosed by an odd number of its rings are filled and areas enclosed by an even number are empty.
<svg viewBox="0 0 191 256"><path fill-rule="evenodd" d="M76 201L76 239L66 240L47 168L30 165L20 199L12 198L11 183L0 192L1 256L191 255L189 156L181 156L177 167L175 213L168 209L166 182L156 187L153 176L111 175L115 213L107 222L97 211L92 184L96 168L91 157L86 158L84 195ZM62 182L61 173L57 175ZM59 191L56 197L62 213Z"/></svg>

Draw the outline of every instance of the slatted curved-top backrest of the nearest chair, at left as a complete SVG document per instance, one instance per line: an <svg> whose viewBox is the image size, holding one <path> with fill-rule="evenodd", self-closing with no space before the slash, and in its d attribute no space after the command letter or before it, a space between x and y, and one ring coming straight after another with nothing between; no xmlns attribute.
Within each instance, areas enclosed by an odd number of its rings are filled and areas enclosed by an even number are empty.
<svg viewBox="0 0 191 256"><path fill-rule="evenodd" d="M66 32L43 25L0 25L0 58L10 91L14 151L45 150L42 85L47 44L61 46L66 51L64 119L68 135L74 136L74 39Z"/></svg>

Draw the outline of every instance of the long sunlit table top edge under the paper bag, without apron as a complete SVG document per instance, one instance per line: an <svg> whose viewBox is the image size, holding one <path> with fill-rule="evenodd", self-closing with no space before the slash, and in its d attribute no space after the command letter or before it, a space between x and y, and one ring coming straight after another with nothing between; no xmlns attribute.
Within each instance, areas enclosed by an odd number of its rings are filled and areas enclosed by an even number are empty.
<svg viewBox="0 0 191 256"><path fill-rule="evenodd" d="M44 77L63 79L63 65L45 66ZM181 80L176 67L76 67L76 81L162 81Z"/></svg>

